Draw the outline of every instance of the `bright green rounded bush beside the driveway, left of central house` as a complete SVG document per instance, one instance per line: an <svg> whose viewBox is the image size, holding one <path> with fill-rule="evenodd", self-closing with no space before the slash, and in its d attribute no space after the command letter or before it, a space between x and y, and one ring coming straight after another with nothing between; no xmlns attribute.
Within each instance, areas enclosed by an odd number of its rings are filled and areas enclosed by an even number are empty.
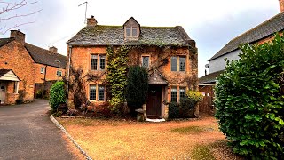
<svg viewBox="0 0 284 160"><path fill-rule="evenodd" d="M66 103L66 90L64 82L58 81L51 85L50 105L53 112L57 111L57 108L61 103Z"/></svg>

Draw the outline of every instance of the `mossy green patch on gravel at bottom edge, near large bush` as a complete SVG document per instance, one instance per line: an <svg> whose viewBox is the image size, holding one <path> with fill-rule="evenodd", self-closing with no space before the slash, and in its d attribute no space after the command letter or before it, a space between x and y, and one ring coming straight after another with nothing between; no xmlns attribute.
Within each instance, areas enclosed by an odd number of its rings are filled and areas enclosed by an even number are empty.
<svg viewBox="0 0 284 160"><path fill-rule="evenodd" d="M212 148L211 145L198 145L193 149L192 158L194 160L215 160L210 148Z"/></svg>

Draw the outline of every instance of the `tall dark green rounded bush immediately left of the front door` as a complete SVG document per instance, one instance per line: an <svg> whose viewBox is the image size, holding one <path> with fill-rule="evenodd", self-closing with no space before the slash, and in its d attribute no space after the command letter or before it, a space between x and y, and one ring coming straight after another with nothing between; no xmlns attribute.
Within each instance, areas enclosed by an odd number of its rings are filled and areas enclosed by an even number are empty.
<svg viewBox="0 0 284 160"><path fill-rule="evenodd" d="M140 66L130 67L126 87L126 100L130 112L142 108L142 105L146 102L147 92L148 72L146 68Z"/></svg>

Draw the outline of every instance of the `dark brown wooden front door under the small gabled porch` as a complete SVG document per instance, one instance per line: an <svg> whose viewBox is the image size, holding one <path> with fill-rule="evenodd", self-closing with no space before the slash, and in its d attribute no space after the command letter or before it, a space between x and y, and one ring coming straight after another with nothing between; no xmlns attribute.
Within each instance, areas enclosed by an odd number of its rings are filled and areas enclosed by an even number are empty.
<svg viewBox="0 0 284 160"><path fill-rule="evenodd" d="M162 85L149 85L147 116L161 116Z"/></svg>

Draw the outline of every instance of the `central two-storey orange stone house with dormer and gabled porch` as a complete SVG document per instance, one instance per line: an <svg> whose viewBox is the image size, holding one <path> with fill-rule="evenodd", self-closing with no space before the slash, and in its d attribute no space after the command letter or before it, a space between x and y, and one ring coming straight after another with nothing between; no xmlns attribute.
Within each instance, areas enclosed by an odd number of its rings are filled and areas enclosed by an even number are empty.
<svg viewBox="0 0 284 160"><path fill-rule="evenodd" d="M103 83L109 45L136 46L128 53L128 65L148 68L148 100L143 107L147 117L167 118L166 102L178 102L186 91L198 89L195 41L180 26L143 27L133 17L122 26L105 26L98 25L91 16L87 26L67 44L68 59L74 68L83 68L84 74L101 74L99 81L89 82L85 87L88 100L95 106L105 105L109 100L106 95L110 91L106 91Z"/></svg>

